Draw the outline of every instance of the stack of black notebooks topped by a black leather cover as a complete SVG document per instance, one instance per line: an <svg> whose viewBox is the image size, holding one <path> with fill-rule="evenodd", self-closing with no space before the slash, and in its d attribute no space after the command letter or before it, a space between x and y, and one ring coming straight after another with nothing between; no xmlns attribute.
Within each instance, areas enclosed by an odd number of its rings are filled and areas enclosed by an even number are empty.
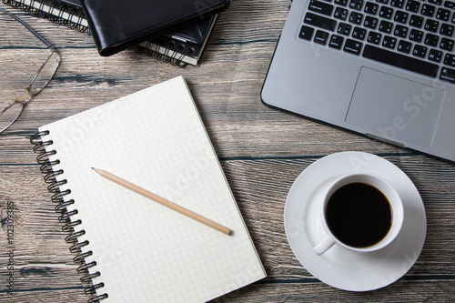
<svg viewBox="0 0 455 303"><path fill-rule="evenodd" d="M175 66L197 66L228 0L2 0L93 35L101 56L135 47Z"/></svg>

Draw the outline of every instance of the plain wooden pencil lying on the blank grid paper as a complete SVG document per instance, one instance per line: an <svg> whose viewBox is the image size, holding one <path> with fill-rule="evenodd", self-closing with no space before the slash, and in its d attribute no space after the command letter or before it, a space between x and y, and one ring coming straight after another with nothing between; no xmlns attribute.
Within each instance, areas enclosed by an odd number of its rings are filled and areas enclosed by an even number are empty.
<svg viewBox="0 0 455 303"><path fill-rule="evenodd" d="M148 197L149 199L152 199L154 201L156 201L157 203L165 206L165 207L169 207L177 212L179 212L180 214L182 215L185 215L187 217L191 217L192 219L195 219L197 220L198 222L200 223L203 223L205 225L207 225L208 227L212 227L212 228L215 228L217 229L217 231L220 231L226 235L231 235L232 232L229 228L227 227L224 227L220 224L218 224L217 222L214 222L210 219L208 219L207 217L203 217L203 216L200 216L198 215L197 213L185 208L185 207L180 207L179 205L165 199L164 197L159 197L157 196L156 194L154 193L151 193L149 192L148 190L142 188L142 187L137 187L136 185L132 184L131 182L128 182L124 179L122 179L121 177L116 177L115 175L112 175L111 173L109 172L106 172L106 170L103 170L103 169L99 169L99 168L94 168L92 167L93 170L96 171L97 174L99 174L101 177L106 177L106 179L110 180L110 181L113 181L115 182L116 184L122 186L122 187L126 187L134 192L136 192L137 194L139 195L142 195L144 197Z"/></svg>

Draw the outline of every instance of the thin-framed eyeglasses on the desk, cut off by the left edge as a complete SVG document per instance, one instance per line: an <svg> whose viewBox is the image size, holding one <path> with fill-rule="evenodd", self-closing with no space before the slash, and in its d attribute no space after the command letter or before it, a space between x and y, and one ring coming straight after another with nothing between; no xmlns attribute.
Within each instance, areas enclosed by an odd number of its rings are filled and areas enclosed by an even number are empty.
<svg viewBox="0 0 455 303"><path fill-rule="evenodd" d="M13 102L0 112L0 134L2 134L9 126L12 126L13 123L15 123L19 116L21 116L24 112L25 106L32 102L33 99L35 99L35 96L41 93L45 87L49 85L51 80L56 75L56 70L60 65L61 58L54 46L48 43L41 35L38 35L29 25L26 25L24 21L9 13L2 7L0 7L0 12L11 16L15 19L15 21L24 25L25 28L39 41L41 41L45 45L46 49L50 51L50 54L46 56L45 62L38 68L38 71L35 73L35 76L32 77L30 83L25 85L25 93L28 99L13 99ZM55 64L53 64L54 62Z"/></svg>

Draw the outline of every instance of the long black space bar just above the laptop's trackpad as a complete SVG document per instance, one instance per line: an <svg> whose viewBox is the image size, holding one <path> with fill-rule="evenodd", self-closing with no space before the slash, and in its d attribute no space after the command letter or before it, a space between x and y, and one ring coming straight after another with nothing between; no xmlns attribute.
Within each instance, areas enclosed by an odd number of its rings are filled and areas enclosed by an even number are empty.
<svg viewBox="0 0 455 303"><path fill-rule="evenodd" d="M438 76L438 66L417 58L404 56L373 45L365 45L362 56L390 66L404 68L425 76ZM453 73L455 79L455 73Z"/></svg>

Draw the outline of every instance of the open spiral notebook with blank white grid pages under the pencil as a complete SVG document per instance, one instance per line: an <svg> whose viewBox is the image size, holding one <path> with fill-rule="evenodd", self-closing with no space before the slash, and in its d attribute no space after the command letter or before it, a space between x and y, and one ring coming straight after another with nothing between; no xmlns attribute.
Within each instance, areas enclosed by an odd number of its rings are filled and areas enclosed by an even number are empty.
<svg viewBox="0 0 455 303"><path fill-rule="evenodd" d="M266 277L182 76L39 127L32 143L71 231L78 271L92 282L86 289L92 302L203 302ZM120 187L91 167L233 234Z"/></svg>

